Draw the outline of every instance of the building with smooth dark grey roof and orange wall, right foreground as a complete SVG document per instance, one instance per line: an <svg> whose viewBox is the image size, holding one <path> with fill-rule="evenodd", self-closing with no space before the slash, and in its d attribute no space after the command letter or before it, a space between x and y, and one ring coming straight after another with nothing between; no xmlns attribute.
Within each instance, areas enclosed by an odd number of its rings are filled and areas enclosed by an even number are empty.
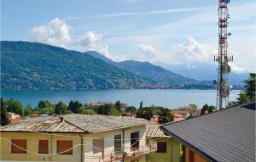
<svg viewBox="0 0 256 162"><path fill-rule="evenodd" d="M255 161L255 103L160 126L183 145L183 161Z"/></svg>

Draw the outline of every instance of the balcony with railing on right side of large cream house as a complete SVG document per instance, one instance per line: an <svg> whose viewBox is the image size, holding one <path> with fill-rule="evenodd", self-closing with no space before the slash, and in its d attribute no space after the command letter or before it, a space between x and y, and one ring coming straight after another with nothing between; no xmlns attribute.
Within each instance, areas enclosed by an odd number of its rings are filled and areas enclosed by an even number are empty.
<svg viewBox="0 0 256 162"><path fill-rule="evenodd" d="M149 154L156 151L156 146L154 144L145 145L141 147L131 147L131 151L125 156L135 157L143 154Z"/></svg>

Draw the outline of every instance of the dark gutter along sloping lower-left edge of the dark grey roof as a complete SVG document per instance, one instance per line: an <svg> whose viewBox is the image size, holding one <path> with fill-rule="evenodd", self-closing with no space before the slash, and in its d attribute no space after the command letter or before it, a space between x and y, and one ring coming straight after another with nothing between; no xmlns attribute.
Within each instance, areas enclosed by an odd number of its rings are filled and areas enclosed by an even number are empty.
<svg viewBox="0 0 256 162"><path fill-rule="evenodd" d="M178 142L181 142L184 146L190 148L191 150L193 150L195 153L200 154L204 159L206 159L207 161L211 161L211 162L218 162L216 159L213 159L211 156L207 155L206 153L204 153L203 151L201 151L200 149L196 148L195 146L191 145L189 142L186 142L185 140L183 140L182 138L176 136L175 134L173 134L170 131L167 131L164 127L160 126L160 130L164 131L164 133L168 136L172 136L173 138L175 138ZM172 139L173 140L173 139Z"/></svg>

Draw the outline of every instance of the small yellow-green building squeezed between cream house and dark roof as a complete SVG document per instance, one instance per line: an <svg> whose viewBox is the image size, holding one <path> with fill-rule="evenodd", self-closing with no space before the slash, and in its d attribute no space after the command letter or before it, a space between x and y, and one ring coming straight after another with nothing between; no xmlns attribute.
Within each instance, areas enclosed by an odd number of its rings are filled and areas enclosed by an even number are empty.
<svg viewBox="0 0 256 162"><path fill-rule="evenodd" d="M146 154L147 162L180 162L180 143L160 131L160 125L146 126L146 143L157 146L153 153Z"/></svg>

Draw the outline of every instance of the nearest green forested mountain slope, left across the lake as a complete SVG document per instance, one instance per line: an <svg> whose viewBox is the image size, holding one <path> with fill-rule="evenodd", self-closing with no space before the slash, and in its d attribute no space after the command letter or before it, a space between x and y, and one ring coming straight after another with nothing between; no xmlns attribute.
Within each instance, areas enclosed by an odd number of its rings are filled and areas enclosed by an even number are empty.
<svg viewBox="0 0 256 162"><path fill-rule="evenodd" d="M2 89L144 88L153 83L88 54L35 42L1 42Z"/></svg>

